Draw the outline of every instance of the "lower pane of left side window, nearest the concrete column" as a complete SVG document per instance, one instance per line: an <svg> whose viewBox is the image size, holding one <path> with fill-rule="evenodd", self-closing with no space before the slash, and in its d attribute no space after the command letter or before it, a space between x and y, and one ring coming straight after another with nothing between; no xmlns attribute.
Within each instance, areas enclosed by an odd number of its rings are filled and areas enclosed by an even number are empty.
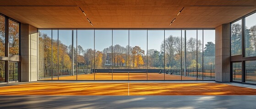
<svg viewBox="0 0 256 109"><path fill-rule="evenodd" d="M9 62L9 81L18 80L18 62Z"/></svg>

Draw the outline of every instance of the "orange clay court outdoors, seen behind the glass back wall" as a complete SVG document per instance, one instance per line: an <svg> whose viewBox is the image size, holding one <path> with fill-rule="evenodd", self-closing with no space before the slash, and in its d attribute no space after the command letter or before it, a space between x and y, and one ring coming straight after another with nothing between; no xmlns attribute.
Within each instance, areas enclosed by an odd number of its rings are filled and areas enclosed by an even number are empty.
<svg viewBox="0 0 256 109"><path fill-rule="evenodd" d="M44 78L40 80L51 79L52 78ZM198 78L197 80L201 79L202 78ZM53 80L58 80L58 77L53 77ZM196 77L163 73L96 73L79 74L77 76L59 76L59 80L196 80Z"/></svg>

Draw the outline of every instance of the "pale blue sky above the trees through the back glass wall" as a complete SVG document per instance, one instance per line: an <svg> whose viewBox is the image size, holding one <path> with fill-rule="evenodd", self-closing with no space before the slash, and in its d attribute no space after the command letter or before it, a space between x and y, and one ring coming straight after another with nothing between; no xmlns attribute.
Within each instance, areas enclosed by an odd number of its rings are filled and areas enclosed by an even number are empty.
<svg viewBox="0 0 256 109"><path fill-rule="evenodd" d="M51 30L40 30L51 36ZM165 32L165 33L164 33ZM204 30L204 43L211 41L215 43L215 30ZM58 31L53 30L53 38L57 39ZM129 37L130 35L130 37ZM181 30L113 30L113 45L121 46L139 46L147 52L147 48L160 51L160 46L165 38L169 35L181 36ZM184 37L184 30L182 30ZM202 30L197 31L198 40L202 41ZM148 37L147 37L148 36ZM187 39L196 38L196 30L186 30ZM130 40L128 40L130 38ZM72 30L59 30L59 40L65 45L72 44ZM76 30L74 30L74 40L76 41ZM148 45L147 45L148 40ZM74 43L76 45L76 42ZM77 45L81 45L84 50L93 49L94 47L94 31L93 30L77 30ZM95 49L102 51L112 45L112 30L95 30Z"/></svg>

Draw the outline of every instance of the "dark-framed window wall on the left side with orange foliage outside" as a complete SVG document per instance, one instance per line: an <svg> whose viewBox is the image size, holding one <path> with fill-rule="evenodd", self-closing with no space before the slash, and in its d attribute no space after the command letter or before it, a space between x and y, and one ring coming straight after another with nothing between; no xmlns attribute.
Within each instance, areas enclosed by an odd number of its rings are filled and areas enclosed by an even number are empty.
<svg viewBox="0 0 256 109"><path fill-rule="evenodd" d="M0 14L0 82L19 81L18 55L20 23Z"/></svg>

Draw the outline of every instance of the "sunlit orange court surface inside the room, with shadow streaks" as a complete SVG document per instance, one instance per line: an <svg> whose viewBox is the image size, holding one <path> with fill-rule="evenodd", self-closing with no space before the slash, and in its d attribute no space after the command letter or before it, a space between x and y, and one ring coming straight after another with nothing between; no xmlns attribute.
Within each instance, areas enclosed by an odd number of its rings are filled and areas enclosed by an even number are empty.
<svg viewBox="0 0 256 109"><path fill-rule="evenodd" d="M29 83L0 87L0 95L256 95L218 83Z"/></svg>

